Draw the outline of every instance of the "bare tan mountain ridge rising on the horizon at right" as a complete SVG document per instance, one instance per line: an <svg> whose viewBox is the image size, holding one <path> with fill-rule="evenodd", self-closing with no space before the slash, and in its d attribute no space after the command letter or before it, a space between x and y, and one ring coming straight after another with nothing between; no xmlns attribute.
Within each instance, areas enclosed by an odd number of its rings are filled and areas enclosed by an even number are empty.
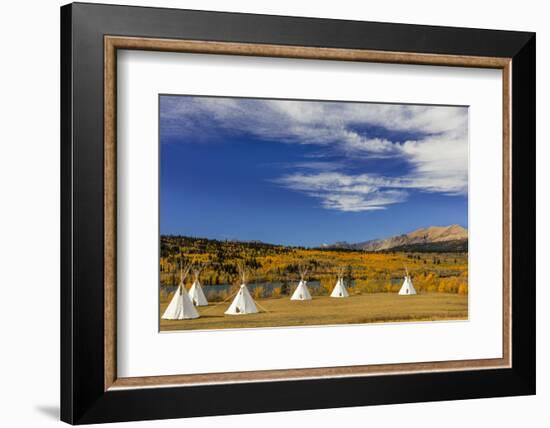
<svg viewBox="0 0 550 428"><path fill-rule="evenodd" d="M463 252L468 251L468 230L458 224L430 226L385 239L373 239L354 244L336 242L323 248L363 251Z"/></svg>

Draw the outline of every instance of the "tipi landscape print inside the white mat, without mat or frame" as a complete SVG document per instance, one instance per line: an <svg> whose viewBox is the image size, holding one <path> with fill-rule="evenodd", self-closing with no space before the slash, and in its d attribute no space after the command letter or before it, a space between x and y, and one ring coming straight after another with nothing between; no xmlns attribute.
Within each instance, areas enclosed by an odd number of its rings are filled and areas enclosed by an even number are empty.
<svg viewBox="0 0 550 428"><path fill-rule="evenodd" d="M161 332L468 320L468 107L161 94L159 111ZM449 224L353 242L416 215Z"/></svg>

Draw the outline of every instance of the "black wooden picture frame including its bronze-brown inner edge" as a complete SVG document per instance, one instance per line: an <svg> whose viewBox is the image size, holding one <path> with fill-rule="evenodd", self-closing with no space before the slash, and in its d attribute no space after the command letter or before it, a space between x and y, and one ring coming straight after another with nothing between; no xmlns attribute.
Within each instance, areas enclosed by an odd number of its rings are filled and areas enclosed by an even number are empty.
<svg viewBox="0 0 550 428"><path fill-rule="evenodd" d="M502 70L502 358L119 377L121 49ZM535 392L534 34L71 4L61 9L61 53L62 420L81 424ZM216 406L209 405L213 400Z"/></svg>

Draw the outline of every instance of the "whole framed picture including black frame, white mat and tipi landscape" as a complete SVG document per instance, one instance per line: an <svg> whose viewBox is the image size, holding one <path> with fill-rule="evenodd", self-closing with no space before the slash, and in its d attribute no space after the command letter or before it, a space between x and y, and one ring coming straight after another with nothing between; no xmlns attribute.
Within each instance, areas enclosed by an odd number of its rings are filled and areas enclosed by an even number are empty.
<svg viewBox="0 0 550 428"><path fill-rule="evenodd" d="M61 57L62 420L535 393L533 33L76 3Z"/></svg>

